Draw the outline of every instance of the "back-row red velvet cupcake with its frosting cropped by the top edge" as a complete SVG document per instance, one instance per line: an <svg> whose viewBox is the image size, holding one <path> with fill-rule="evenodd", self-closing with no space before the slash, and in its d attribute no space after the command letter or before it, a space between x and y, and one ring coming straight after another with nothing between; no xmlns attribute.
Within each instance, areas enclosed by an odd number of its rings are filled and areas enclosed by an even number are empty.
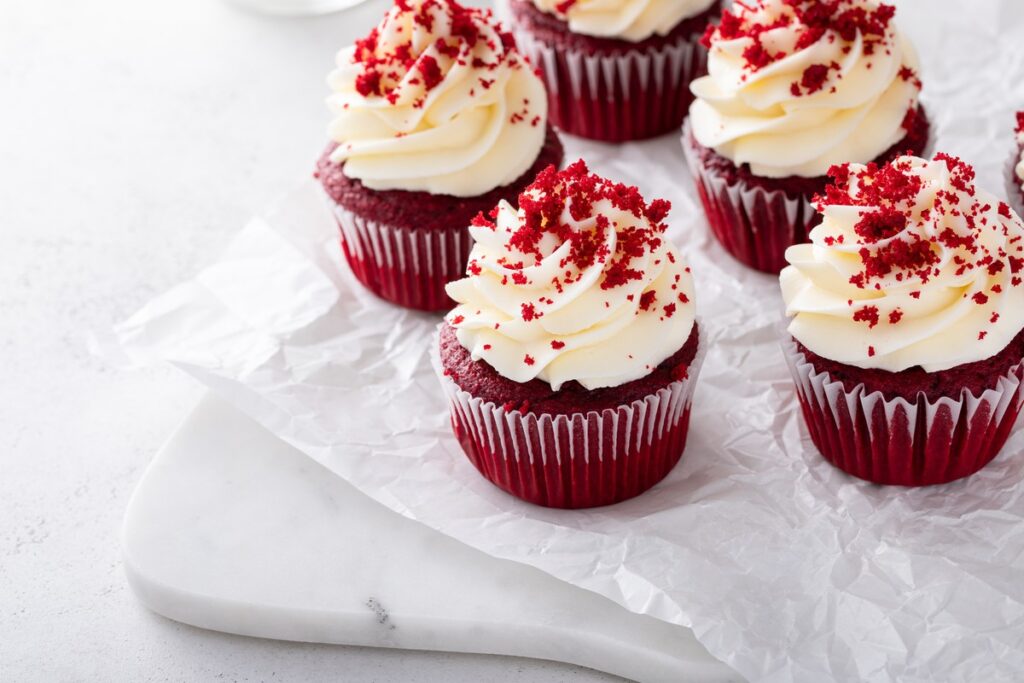
<svg viewBox="0 0 1024 683"><path fill-rule="evenodd" d="M606 142L679 126L705 73L719 0L511 0L516 39L542 68L551 121Z"/></svg>

